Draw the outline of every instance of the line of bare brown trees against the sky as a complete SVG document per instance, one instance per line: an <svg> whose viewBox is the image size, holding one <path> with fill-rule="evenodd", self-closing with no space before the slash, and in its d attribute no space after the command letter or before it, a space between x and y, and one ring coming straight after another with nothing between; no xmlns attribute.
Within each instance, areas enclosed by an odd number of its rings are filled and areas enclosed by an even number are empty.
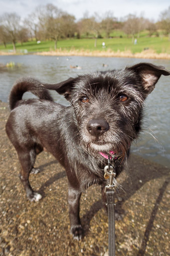
<svg viewBox="0 0 170 256"><path fill-rule="evenodd" d="M112 11L107 11L102 17L97 13L89 16L86 12L80 20L76 21L74 15L51 3L37 6L22 24L21 17L15 12L5 12L0 16L0 42L4 47L6 43L12 42L14 52L17 41L22 44L30 39L53 40L54 49L56 49L57 41L62 38L93 37L96 47L97 38L110 37L115 29L121 29L127 36L132 36L132 41L135 36L139 37L144 29L148 29L150 36L153 34L159 36L159 29L170 36L170 6L160 13L160 19L157 22L135 14L129 14L120 21Z"/></svg>

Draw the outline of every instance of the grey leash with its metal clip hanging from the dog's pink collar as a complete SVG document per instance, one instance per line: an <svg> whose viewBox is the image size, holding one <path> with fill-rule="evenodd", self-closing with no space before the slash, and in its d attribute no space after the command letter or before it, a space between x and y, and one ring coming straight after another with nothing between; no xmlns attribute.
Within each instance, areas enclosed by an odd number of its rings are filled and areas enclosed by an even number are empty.
<svg viewBox="0 0 170 256"><path fill-rule="evenodd" d="M109 183L105 186L105 193L107 197L107 207L108 207L108 224L109 224L109 256L116 255L115 246L115 185L113 183L113 178L116 176L114 167L110 163L110 158L108 157L108 165L104 168L105 178L109 178Z"/></svg>

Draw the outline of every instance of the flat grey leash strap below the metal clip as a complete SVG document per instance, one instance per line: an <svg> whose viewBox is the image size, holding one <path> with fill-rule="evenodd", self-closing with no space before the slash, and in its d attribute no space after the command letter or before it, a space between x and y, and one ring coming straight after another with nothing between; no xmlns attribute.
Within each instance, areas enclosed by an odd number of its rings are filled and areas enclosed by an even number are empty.
<svg viewBox="0 0 170 256"><path fill-rule="evenodd" d="M106 191L109 222L109 256L115 256L115 190Z"/></svg>

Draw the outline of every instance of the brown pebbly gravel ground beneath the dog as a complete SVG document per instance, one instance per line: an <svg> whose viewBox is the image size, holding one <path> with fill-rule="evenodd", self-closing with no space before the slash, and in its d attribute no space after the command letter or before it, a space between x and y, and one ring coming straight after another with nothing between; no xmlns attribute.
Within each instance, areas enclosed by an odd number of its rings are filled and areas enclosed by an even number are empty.
<svg viewBox="0 0 170 256"><path fill-rule="evenodd" d="M99 186L81 198L81 241L69 232L64 168L47 152L37 157L40 173L30 175L43 198L26 199L18 159L5 134L8 115L7 104L0 102L0 256L108 255L108 220ZM119 182L126 192L117 192L116 198L116 255L170 255L170 169L131 155Z"/></svg>

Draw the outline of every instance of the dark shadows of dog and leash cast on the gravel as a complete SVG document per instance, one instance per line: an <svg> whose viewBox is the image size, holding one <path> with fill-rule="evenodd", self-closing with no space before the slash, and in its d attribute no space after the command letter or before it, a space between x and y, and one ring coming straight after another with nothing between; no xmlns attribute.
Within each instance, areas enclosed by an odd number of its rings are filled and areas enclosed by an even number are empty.
<svg viewBox="0 0 170 256"><path fill-rule="evenodd" d="M53 160L51 162L48 162L44 165L39 166L40 172L43 170L44 167L51 165L53 163L57 163L56 160ZM137 167L136 167L137 166ZM118 201L116 203L115 209L116 212L119 214L123 213L122 204L128 200L136 191L138 191L146 182L155 179L160 178L162 176L168 176L170 174L169 169L164 168L160 165L160 167L154 168L152 166L152 163L148 162L147 164L143 164L143 159L134 157L130 161L129 165L129 175L126 177L126 179L123 180L121 183L121 186L123 187L125 192L121 192L121 197L123 198L122 202ZM44 188L51 185L54 181L63 178L66 176L66 172L62 171L59 173L55 173L52 177L50 177L45 183L41 185L39 188L39 192L44 196ZM148 221L144 238L142 241L141 248L137 254L137 256L144 256L146 251L146 245L149 240L149 235L151 232L151 229L153 227L153 223L159 208L159 205L161 203L163 194L167 188L167 185L169 184L170 179L167 179L162 187L160 188L160 193L156 199L155 205L153 207L150 219ZM93 205L90 207L90 209L82 216L81 221L83 223L83 227L85 230L85 235L88 233L90 229L90 221L94 217L94 215L103 207L102 200L97 200L93 203Z"/></svg>

